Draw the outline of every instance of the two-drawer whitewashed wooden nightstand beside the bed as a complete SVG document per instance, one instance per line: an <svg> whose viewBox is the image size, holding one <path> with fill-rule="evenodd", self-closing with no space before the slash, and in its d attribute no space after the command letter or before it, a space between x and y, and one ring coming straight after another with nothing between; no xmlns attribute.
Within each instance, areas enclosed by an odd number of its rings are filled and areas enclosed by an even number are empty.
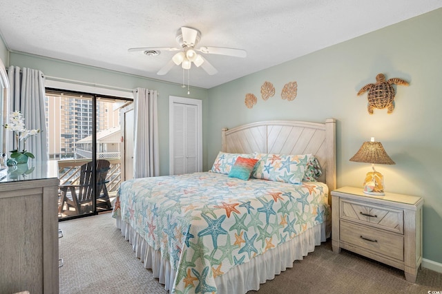
<svg viewBox="0 0 442 294"><path fill-rule="evenodd" d="M416 282L422 262L423 198L396 193L370 196L363 189L332 191L332 247L405 271Z"/></svg>

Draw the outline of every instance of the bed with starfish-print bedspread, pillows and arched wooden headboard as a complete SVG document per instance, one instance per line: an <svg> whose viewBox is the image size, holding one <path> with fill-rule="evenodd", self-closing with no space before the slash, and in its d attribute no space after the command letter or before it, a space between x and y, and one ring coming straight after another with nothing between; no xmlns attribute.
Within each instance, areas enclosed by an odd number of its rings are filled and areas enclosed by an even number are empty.
<svg viewBox="0 0 442 294"><path fill-rule="evenodd" d="M329 118L222 129L210 171L124 182L117 227L171 293L258 290L330 235L335 128Z"/></svg>

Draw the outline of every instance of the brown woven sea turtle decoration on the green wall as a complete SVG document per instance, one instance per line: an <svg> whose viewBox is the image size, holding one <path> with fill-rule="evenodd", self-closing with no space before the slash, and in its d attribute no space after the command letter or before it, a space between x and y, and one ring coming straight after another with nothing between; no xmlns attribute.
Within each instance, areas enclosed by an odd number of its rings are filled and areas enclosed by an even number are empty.
<svg viewBox="0 0 442 294"><path fill-rule="evenodd" d="M373 114L373 109L383 109L387 107L387 114L391 114L394 109L394 88L395 85L409 85L402 78L390 78L385 81L383 74L376 76L376 83L367 84L358 92L358 96L368 91L368 113Z"/></svg>

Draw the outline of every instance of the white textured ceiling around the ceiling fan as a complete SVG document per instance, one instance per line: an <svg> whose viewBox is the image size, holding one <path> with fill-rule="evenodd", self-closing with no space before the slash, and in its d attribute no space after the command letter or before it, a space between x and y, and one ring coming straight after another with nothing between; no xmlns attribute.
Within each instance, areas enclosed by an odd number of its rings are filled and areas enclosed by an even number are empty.
<svg viewBox="0 0 442 294"><path fill-rule="evenodd" d="M245 59L204 54L218 74L192 67L190 84L211 88L442 7L442 0L1 0L8 50L182 83L179 66L156 73L175 52L182 26L200 30L197 46L240 48ZM187 78L186 78L187 82Z"/></svg>

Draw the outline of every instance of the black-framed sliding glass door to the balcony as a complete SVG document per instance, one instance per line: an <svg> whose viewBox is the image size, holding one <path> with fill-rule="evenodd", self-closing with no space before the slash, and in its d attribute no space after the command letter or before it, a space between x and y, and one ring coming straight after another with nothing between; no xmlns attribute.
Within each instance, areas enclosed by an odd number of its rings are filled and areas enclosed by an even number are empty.
<svg viewBox="0 0 442 294"><path fill-rule="evenodd" d="M122 181L124 98L46 90L48 150L59 167L59 218L111 210Z"/></svg>

